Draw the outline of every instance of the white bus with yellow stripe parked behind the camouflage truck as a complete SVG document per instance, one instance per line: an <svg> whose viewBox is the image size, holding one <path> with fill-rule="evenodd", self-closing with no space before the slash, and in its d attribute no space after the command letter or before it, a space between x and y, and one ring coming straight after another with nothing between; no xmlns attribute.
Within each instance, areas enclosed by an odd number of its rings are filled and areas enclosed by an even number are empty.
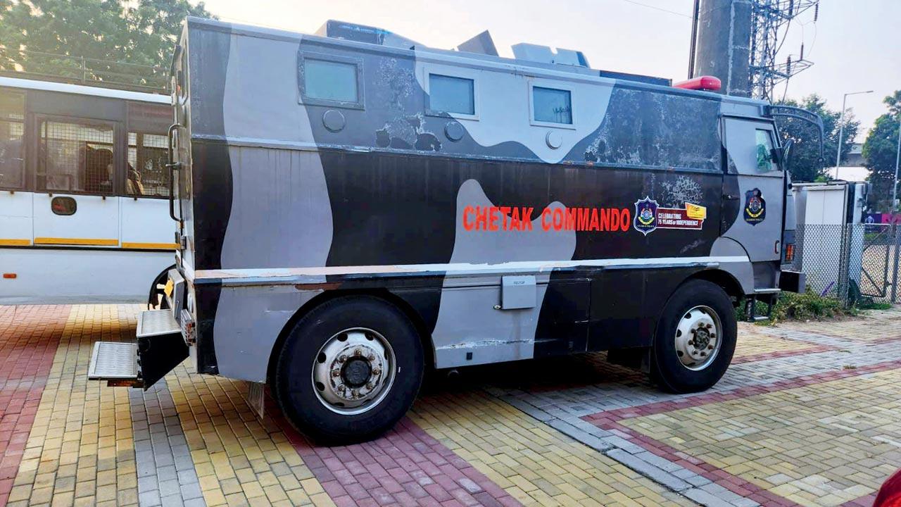
<svg viewBox="0 0 901 507"><path fill-rule="evenodd" d="M0 304L146 302L174 262L169 97L0 77Z"/></svg>

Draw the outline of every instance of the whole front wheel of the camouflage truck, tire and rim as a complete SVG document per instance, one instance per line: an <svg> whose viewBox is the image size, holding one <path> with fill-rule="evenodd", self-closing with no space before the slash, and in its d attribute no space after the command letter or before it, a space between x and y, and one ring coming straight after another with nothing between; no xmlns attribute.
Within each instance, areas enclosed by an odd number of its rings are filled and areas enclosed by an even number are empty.
<svg viewBox="0 0 901 507"><path fill-rule="evenodd" d="M654 336L651 378L669 392L704 391L732 362L738 328L720 286L693 280L667 302Z"/></svg>

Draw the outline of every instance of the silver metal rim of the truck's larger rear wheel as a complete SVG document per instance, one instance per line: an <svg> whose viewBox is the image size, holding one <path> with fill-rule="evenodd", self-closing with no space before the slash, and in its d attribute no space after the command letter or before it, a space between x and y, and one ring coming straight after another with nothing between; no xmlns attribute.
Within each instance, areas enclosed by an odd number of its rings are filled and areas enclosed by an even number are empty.
<svg viewBox="0 0 901 507"><path fill-rule="evenodd" d="M385 336L352 327L325 341L313 359L313 390L333 412L355 415L372 410L394 383L396 359Z"/></svg>

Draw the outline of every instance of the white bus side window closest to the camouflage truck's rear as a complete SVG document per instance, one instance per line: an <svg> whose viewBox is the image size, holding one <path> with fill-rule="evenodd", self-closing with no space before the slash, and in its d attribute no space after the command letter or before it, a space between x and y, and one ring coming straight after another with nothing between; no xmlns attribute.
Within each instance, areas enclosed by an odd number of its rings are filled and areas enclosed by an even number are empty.
<svg viewBox="0 0 901 507"><path fill-rule="evenodd" d="M128 133L125 195L168 197L167 157L165 135Z"/></svg>

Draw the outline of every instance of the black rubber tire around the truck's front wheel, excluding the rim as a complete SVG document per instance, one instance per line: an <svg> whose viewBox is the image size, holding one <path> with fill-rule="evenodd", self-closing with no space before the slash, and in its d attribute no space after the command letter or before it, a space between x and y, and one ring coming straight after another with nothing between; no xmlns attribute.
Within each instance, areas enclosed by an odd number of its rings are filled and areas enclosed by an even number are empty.
<svg viewBox="0 0 901 507"><path fill-rule="evenodd" d="M679 360L675 337L679 320L697 306L713 309L720 319L721 344L709 364L701 370L691 370ZM719 382L732 363L737 336L735 309L725 290L710 281L687 281L670 296L657 324L651 349L651 379L669 392L705 391Z"/></svg>

